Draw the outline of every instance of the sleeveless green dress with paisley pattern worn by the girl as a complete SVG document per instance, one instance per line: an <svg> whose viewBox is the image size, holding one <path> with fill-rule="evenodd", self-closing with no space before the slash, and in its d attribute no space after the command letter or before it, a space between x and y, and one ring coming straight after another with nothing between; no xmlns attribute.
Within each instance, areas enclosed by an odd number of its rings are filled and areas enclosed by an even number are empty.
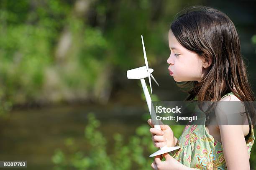
<svg viewBox="0 0 256 170"><path fill-rule="evenodd" d="M250 131L245 139L248 155L250 156L254 142L251 119L249 119L249 124ZM181 148L174 151L172 156L187 167L200 170L227 170L223 146L206 131L205 125L187 125L176 146Z"/></svg>

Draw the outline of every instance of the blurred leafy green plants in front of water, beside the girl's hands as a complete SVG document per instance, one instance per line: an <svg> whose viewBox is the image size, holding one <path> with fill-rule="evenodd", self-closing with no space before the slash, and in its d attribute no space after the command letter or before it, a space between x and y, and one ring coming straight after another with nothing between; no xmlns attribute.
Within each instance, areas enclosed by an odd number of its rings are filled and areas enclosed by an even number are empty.
<svg viewBox="0 0 256 170"><path fill-rule="evenodd" d="M52 157L56 170L77 169L77 170L148 170L153 158L148 157L158 150L154 147L149 125L143 124L136 128L136 133L128 139L123 134L113 134L113 141L107 141L102 135L100 122L94 114L88 114L87 126L84 130L84 145L90 150L82 151L76 148L75 142L68 138L65 145L68 152L57 149ZM172 127L174 134L180 135L184 126ZM114 142L113 150L108 150L108 143Z"/></svg>

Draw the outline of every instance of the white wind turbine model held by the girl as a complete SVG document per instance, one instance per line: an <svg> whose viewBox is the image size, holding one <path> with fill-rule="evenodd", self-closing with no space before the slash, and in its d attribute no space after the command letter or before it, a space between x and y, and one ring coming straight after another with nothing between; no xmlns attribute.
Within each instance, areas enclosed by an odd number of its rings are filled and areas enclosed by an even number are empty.
<svg viewBox="0 0 256 170"><path fill-rule="evenodd" d="M151 89L151 94L152 94L152 87L151 87L151 79L150 77L156 82L156 84L159 86L159 84L157 83L156 79L154 78L154 76L151 74L154 70L153 69L148 69L148 61L147 61L147 56L146 56L146 50L145 50L145 46L144 46L144 41L143 41L143 36L141 35L141 41L142 41L142 46L143 46L143 53L144 53L144 59L145 59L145 64L146 66L142 66L136 69L132 69L132 70L128 70L127 71L127 78L128 79L140 79L141 80L141 86L144 92L144 95L146 97L146 102L148 104L148 110L150 113L150 116L152 118L152 116L156 117L156 112L155 109L151 110L151 97L150 94L148 92L148 88L145 82L146 77L148 77L149 80L149 85L150 85L150 89ZM161 130L160 125L154 125L154 128ZM160 150L156 151L155 153L151 154L149 157L154 157L156 155L162 155L164 153L167 152L171 152L173 150L177 150L179 149L179 146L176 147L161 147Z"/></svg>

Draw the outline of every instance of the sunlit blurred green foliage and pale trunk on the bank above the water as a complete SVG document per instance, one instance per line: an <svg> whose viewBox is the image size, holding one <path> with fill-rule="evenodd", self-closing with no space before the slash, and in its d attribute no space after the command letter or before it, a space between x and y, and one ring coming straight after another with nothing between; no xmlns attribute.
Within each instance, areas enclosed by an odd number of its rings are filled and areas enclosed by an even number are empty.
<svg viewBox="0 0 256 170"><path fill-rule="evenodd" d="M102 30L73 14L75 1L0 2L0 103L59 102L92 91L108 42ZM56 51L63 30L72 41L64 57ZM62 49L64 51L65 49ZM56 95L51 95L55 91ZM85 92L84 92L85 91ZM77 97L79 98L79 97Z"/></svg>

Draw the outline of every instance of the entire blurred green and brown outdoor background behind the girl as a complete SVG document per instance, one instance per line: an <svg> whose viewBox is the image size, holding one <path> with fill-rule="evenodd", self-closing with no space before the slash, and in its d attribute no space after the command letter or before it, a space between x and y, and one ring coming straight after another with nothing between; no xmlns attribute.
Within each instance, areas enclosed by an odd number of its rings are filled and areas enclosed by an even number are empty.
<svg viewBox="0 0 256 170"><path fill-rule="evenodd" d="M206 5L233 20L256 91L254 0L1 0L0 160L28 169L150 169L157 149L140 81L153 100L187 96L169 76L168 30L185 7ZM146 80L146 82L148 82ZM177 138L184 127L172 127ZM251 151L256 168L256 147Z"/></svg>

